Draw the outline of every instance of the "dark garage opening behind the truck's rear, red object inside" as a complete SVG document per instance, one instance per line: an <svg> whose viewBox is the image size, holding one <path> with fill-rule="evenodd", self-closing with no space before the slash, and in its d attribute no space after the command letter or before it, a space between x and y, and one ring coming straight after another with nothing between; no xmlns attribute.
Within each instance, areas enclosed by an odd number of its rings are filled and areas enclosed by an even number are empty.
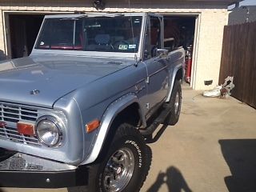
<svg viewBox="0 0 256 192"><path fill-rule="evenodd" d="M171 50L182 46L186 50L185 81L191 82L192 55L196 16L164 16L165 47Z"/></svg>

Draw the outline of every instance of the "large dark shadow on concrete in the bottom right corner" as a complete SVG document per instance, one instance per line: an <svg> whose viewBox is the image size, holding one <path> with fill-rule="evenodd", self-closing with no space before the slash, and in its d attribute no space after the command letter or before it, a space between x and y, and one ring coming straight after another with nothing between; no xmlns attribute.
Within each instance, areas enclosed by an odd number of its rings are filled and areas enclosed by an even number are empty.
<svg viewBox="0 0 256 192"><path fill-rule="evenodd" d="M256 139L219 140L232 175L224 178L230 192L256 191Z"/></svg>

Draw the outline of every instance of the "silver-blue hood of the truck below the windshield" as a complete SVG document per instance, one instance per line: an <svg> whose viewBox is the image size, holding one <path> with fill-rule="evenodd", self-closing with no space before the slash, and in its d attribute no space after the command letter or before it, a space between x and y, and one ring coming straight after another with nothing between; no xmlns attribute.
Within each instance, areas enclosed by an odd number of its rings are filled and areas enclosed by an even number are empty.
<svg viewBox="0 0 256 192"><path fill-rule="evenodd" d="M69 56L28 57L2 62L0 101L52 107L58 98L130 64L111 58ZM37 93L32 94L33 91Z"/></svg>

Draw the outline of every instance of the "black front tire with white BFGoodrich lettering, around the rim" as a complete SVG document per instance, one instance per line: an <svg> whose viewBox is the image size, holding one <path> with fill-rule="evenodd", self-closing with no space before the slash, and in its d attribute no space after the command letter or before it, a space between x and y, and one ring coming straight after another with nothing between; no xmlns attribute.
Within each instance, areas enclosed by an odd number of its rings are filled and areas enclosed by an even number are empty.
<svg viewBox="0 0 256 192"><path fill-rule="evenodd" d="M138 130L127 123L122 123L118 126L114 139L110 144L109 150L106 153L106 157L100 163L96 174L96 191L106 192L110 191L106 185L106 178L104 171L106 171L106 164L110 162L110 158L113 157L117 151L127 150L134 157L134 170L132 171L129 182L126 186L122 186L122 189L116 191L139 191L146 180L146 175L150 170L151 163L151 151L149 146L146 146L146 142ZM128 155L129 156L129 155ZM115 191L115 190L114 190Z"/></svg>

